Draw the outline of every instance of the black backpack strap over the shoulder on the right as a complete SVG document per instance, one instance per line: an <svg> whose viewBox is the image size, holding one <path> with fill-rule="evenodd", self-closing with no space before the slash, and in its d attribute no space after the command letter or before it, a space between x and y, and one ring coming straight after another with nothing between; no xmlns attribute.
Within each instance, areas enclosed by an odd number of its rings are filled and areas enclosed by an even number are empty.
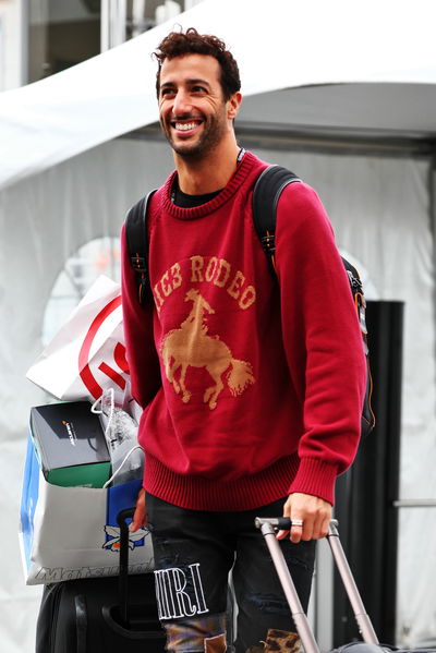
<svg viewBox="0 0 436 653"><path fill-rule="evenodd" d="M276 269L276 211L283 189L294 182L301 182L287 168L268 166L258 177L253 191L253 221L262 247L267 255L271 273Z"/></svg>

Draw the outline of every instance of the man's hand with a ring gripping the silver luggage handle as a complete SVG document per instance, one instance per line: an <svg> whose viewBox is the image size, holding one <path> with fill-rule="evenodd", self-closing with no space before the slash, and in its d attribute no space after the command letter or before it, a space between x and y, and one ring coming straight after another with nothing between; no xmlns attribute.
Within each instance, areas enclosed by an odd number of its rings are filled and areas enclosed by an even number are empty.
<svg viewBox="0 0 436 653"><path fill-rule="evenodd" d="M283 506L283 517L291 521L301 520L303 525L292 525L291 541L296 544L300 540L319 540L328 533L331 519L331 506L328 501L311 494L295 492L290 494ZM289 531L279 531L278 540L283 540Z"/></svg>

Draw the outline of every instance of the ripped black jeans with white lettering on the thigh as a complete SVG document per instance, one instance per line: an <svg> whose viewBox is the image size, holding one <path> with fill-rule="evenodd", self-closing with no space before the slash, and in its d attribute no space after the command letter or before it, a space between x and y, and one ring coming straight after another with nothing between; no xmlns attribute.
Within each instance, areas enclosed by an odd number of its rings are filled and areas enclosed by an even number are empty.
<svg viewBox="0 0 436 653"><path fill-rule="evenodd" d="M146 500L168 651L226 651L230 570L238 604L235 653L262 650L271 629L295 630L266 543L254 525L255 517L280 517L286 498L243 512L187 510L149 494ZM306 609L315 541L293 544L286 539L280 546Z"/></svg>

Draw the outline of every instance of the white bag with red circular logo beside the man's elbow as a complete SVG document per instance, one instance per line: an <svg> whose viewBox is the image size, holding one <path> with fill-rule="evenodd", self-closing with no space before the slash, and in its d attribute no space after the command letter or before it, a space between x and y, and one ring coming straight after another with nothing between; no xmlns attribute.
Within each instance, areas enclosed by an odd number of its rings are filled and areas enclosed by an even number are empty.
<svg viewBox="0 0 436 653"><path fill-rule="evenodd" d="M27 372L58 399L101 397L113 388L117 406L137 418L130 392L120 285L101 275Z"/></svg>

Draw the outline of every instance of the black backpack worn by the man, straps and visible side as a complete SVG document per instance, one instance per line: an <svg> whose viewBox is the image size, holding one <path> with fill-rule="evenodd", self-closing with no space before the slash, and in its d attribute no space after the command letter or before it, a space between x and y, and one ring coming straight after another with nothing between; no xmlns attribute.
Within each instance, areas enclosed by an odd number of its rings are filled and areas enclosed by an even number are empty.
<svg viewBox="0 0 436 653"><path fill-rule="evenodd" d="M290 184L301 182L290 170L281 166L269 166L257 179L253 192L253 221L262 247L266 253L271 274L276 276L276 209L280 194ZM132 267L136 273L140 303L144 303L148 283L148 242L147 242L147 206L155 191L140 199L128 213L125 218L125 238ZM373 380L370 370L367 331L365 322L365 299L362 281L358 270L342 257L344 268L350 281L359 323L362 330L363 347L366 355L366 391L362 408L361 435L368 435L375 425L375 416L371 406Z"/></svg>

